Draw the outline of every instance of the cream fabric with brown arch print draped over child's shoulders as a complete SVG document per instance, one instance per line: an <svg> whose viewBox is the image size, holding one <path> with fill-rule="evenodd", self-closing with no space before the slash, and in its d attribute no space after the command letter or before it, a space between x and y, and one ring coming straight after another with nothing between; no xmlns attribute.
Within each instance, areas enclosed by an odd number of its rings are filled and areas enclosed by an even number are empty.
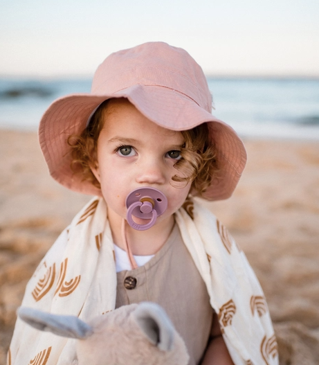
<svg viewBox="0 0 319 365"><path fill-rule="evenodd" d="M106 216L106 204L98 197L75 215L30 279L22 305L84 321L115 308L116 265ZM185 202L176 223L206 283L235 364L278 364L264 294L244 253L197 202ZM74 345L73 339L39 332L18 319L8 365L71 364Z"/></svg>

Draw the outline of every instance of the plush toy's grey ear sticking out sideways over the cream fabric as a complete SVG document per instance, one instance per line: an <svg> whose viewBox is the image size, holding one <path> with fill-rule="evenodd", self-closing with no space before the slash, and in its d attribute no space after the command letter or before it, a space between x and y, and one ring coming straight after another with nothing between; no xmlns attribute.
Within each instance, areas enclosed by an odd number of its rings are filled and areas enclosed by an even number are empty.
<svg viewBox="0 0 319 365"><path fill-rule="evenodd" d="M22 321L37 330L52 332L58 336L86 339L93 333L91 326L75 316L62 316L22 307L17 310L17 314Z"/></svg>

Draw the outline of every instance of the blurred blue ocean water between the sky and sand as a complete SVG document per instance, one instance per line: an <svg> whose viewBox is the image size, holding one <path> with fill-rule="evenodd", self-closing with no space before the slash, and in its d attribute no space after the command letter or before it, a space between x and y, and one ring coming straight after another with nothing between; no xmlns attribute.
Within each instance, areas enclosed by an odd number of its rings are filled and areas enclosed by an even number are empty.
<svg viewBox="0 0 319 365"><path fill-rule="evenodd" d="M319 140L319 80L208 78L217 118L242 137ZM37 130L53 100L91 89L89 79L0 79L0 127Z"/></svg>

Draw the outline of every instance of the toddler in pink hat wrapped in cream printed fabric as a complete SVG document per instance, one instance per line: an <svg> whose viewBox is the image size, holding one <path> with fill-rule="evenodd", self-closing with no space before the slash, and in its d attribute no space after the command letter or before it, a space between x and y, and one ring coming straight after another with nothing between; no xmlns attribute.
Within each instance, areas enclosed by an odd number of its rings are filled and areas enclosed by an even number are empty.
<svg viewBox="0 0 319 365"><path fill-rule="evenodd" d="M190 365L277 364L253 270L193 198L230 197L246 163L243 143L211 109L201 67L162 42L111 54L90 94L55 100L39 126L48 168L95 197L48 251L22 305L87 321L154 301ZM18 319L8 364L74 364L74 344Z"/></svg>

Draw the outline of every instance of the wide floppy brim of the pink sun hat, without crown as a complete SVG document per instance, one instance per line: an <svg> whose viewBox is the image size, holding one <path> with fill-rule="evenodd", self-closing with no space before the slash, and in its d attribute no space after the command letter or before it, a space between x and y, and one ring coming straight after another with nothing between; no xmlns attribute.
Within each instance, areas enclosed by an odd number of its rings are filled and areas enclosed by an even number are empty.
<svg viewBox="0 0 319 365"><path fill-rule="evenodd" d="M113 94L71 94L55 100L42 116L39 142L56 181L79 193L101 195L100 189L71 170L73 158L67 140L80 135L94 109L109 98L127 98L150 121L169 130L190 130L208 123L219 174L202 196L219 200L232 195L246 164L246 150L239 136L188 96L156 85L138 84Z"/></svg>

